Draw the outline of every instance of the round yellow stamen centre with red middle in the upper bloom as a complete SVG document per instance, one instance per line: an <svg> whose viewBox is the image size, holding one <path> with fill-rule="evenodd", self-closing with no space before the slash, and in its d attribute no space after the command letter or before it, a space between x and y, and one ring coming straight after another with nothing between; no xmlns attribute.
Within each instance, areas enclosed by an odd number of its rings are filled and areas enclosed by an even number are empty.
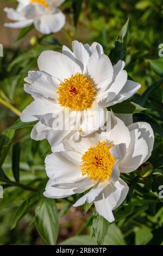
<svg viewBox="0 0 163 256"><path fill-rule="evenodd" d="M95 83L86 75L77 73L61 82L57 93L62 107L82 111L85 108L90 108L95 100Z"/></svg>

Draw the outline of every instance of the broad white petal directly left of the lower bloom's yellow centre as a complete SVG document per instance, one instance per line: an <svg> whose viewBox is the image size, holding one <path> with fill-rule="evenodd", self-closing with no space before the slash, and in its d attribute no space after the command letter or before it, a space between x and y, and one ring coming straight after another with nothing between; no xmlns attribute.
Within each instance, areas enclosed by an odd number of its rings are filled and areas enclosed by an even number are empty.
<svg viewBox="0 0 163 256"><path fill-rule="evenodd" d="M73 154L72 154L73 155ZM80 159L80 154L75 154ZM82 172L78 164L74 164L72 159L67 159L61 153L52 153L45 159L46 173L55 182L71 182L82 179Z"/></svg>

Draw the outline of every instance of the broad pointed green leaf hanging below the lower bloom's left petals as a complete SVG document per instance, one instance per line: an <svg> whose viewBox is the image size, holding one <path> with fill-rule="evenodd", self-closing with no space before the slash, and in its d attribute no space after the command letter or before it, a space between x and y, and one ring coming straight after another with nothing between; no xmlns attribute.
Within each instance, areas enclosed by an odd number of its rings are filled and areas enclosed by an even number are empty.
<svg viewBox="0 0 163 256"><path fill-rule="evenodd" d="M43 198L35 209L37 231L47 245L55 245L58 237L58 210L54 199Z"/></svg>

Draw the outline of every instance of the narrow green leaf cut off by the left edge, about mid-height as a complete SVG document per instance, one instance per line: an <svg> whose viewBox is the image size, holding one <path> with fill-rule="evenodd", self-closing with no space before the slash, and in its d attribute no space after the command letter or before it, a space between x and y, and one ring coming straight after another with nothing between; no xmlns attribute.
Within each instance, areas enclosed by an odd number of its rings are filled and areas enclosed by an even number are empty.
<svg viewBox="0 0 163 256"><path fill-rule="evenodd" d="M14 130L6 130L0 135L0 167L2 167L5 157L8 154L14 135Z"/></svg>

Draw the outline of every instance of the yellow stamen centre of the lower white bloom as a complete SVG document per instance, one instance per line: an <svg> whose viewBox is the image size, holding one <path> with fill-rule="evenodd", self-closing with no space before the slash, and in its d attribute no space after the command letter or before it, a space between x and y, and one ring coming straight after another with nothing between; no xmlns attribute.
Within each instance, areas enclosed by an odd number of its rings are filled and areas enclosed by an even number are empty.
<svg viewBox="0 0 163 256"><path fill-rule="evenodd" d="M91 147L82 156L82 175L95 180L108 180L111 178L112 168L116 159L111 155L112 144L98 142L96 147Z"/></svg>

